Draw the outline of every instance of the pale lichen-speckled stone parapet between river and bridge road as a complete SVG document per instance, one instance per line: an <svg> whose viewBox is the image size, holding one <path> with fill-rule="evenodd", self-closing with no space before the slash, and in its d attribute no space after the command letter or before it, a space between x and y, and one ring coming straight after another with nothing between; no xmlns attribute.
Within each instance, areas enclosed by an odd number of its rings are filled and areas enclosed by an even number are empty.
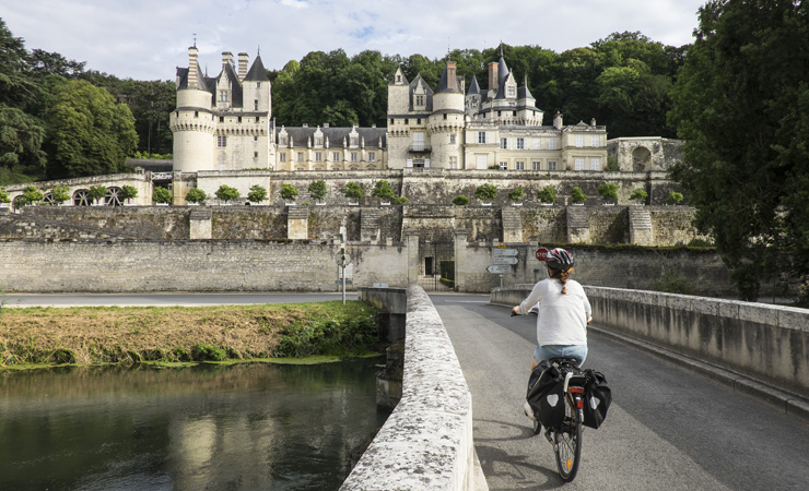
<svg viewBox="0 0 809 491"><path fill-rule="evenodd" d="M340 490L488 490L449 336L421 287L407 297L402 398Z"/></svg>

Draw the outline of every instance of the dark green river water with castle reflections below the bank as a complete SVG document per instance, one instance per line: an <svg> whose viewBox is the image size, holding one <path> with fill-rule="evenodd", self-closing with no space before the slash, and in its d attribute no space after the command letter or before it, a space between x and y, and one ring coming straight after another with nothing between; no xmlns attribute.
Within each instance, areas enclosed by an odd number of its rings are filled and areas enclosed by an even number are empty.
<svg viewBox="0 0 809 491"><path fill-rule="evenodd" d="M1 372L0 489L338 489L378 362Z"/></svg>

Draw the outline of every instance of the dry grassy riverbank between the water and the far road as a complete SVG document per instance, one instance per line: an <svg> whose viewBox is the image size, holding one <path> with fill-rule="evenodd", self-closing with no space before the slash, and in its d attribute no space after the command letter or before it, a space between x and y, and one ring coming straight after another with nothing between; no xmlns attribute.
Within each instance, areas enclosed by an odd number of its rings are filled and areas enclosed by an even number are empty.
<svg viewBox="0 0 809 491"><path fill-rule="evenodd" d="M351 356L377 343L361 302L0 310L0 369Z"/></svg>

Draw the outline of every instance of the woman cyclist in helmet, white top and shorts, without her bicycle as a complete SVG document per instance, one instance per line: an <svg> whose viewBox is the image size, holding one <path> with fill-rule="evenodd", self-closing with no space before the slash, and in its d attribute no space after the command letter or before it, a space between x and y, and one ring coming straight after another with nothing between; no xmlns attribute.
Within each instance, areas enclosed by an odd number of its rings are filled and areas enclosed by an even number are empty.
<svg viewBox="0 0 809 491"><path fill-rule="evenodd" d="M527 314L538 304L537 347L531 360L531 372L551 358L575 358L582 367L587 358L587 324L593 321L593 308L582 285L570 279L573 255L556 248L548 252L548 278L534 286L528 298L512 309L514 314ZM526 402L526 415L534 411Z"/></svg>

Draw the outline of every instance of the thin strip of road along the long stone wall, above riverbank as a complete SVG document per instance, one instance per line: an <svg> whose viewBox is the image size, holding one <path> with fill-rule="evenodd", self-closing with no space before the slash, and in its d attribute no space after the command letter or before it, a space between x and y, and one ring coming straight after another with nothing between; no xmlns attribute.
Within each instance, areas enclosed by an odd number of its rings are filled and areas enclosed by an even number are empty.
<svg viewBox="0 0 809 491"><path fill-rule="evenodd" d="M348 300L356 300L349 291ZM342 294L249 292L249 294L21 294L0 295L4 307L145 307L228 306L255 303L300 303L341 300Z"/></svg>

